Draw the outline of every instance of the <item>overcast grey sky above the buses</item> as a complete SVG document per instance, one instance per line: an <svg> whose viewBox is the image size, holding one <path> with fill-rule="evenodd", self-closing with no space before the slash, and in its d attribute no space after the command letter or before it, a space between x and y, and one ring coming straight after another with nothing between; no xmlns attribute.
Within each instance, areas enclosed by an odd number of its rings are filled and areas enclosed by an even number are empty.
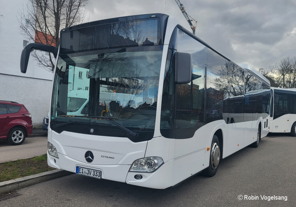
<svg viewBox="0 0 296 207"><path fill-rule="evenodd" d="M90 0L89 21L165 13L192 31L175 0ZM296 56L296 0L180 0L197 37L236 63L259 68ZM165 4L166 3L166 4Z"/></svg>

